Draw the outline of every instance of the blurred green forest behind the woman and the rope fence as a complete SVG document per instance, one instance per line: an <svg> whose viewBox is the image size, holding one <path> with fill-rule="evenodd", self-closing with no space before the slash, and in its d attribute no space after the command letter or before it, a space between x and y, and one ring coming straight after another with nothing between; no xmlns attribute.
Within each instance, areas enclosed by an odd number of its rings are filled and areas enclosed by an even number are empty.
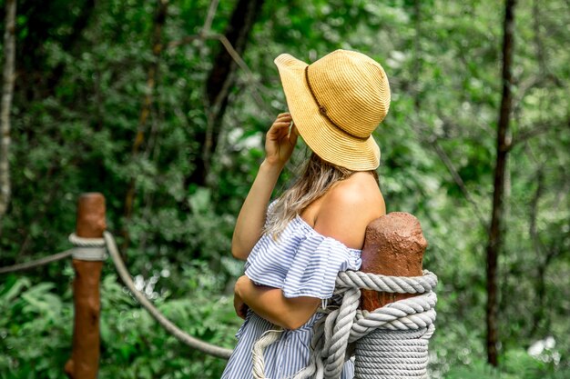
<svg viewBox="0 0 570 379"><path fill-rule="evenodd" d="M420 219L440 278L432 377L570 377L568 1L3 0L3 20L14 3L0 266L67 249L79 194L101 192L137 288L233 347L232 227L287 109L272 61L353 49L390 78L388 211ZM0 275L0 377L63 377L72 279L68 261ZM100 377L219 377L110 262L101 297Z"/></svg>

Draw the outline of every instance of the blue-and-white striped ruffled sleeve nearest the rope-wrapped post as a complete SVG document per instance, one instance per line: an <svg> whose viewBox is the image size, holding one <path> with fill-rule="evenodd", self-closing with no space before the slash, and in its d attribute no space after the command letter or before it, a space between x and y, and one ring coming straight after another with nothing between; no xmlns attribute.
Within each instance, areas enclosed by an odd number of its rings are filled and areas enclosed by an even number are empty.
<svg viewBox="0 0 570 379"><path fill-rule="evenodd" d="M328 299L337 274L358 270L360 251L321 234L309 234L299 244L281 289L285 297L310 296Z"/></svg>

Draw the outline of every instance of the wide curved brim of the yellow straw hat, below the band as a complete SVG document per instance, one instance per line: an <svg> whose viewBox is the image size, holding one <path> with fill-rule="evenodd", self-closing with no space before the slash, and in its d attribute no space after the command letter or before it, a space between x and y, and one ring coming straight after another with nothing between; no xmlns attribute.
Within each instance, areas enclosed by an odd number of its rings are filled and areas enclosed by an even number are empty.
<svg viewBox="0 0 570 379"><path fill-rule="evenodd" d="M380 147L372 135L362 140L343 133L321 115L305 80L307 64L281 54L275 58L289 112L310 149L330 162L352 171L374 170L380 165Z"/></svg>

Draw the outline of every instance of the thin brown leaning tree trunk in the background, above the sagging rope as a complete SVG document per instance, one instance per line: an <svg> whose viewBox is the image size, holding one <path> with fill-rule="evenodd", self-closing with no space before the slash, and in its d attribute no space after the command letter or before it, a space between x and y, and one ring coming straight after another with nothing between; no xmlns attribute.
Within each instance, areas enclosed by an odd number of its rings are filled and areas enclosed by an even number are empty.
<svg viewBox="0 0 570 379"><path fill-rule="evenodd" d="M138 127L137 127L137 135L135 135L135 140L132 146L132 158L136 159L141 145L145 142L145 132L146 126L148 121L148 115L150 115L151 107L154 95L154 89L156 86L156 78L158 74L158 64L160 54L162 53L162 49L164 44L162 43L162 29L167 20L167 11L168 11L168 0L159 0L157 5L157 11L154 16L153 20L153 28L152 28L152 55L153 55L153 62L148 67L148 76L147 76L147 94L143 99L143 104L140 108L140 115L138 115ZM128 234L128 222L130 221L132 214L133 214L133 203L135 200L135 194L137 192L136 187L136 178L134 177L135 173L133 173L133 177L131 178L128 186L127 186L127 194L125 196L125 219L123 224L123 236L125 237L123 244L121 245L121 251L123 254L127 252L127 247L129 244L129 234Z"/></svg>

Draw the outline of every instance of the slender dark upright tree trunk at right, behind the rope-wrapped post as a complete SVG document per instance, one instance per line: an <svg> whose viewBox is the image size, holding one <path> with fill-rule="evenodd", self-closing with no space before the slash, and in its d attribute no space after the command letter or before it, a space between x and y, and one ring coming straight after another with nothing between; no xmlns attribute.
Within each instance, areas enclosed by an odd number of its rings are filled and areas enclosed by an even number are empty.
<svg viewBox="0 0 570 379"><path fill-rule="evenodd" d="M503 95L501 98L501 109L499 111L499 122L497 125L496 142L496 163L494 167L494 194L493 194L493 214L489 227L489 241L487 244L487 361L489 364L497 366L497 315L498 315L498 294L497 294L497 262L498 256L503 247L503 218L504 218L504 185L505 168L509 152L508 140L509 121L512 108L513 85L512 65L513 65L513 45L514 45L514 5L516 0L506 0L504 5L504 37L503 37Z"/></svg>

